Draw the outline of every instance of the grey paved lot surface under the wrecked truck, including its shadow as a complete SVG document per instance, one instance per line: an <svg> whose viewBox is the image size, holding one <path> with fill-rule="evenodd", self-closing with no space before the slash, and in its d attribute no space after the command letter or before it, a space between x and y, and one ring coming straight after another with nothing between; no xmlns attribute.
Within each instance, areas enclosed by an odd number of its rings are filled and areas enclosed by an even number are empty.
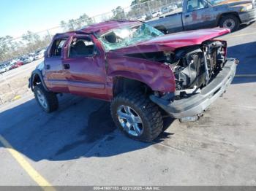
<svg viewBox="0 0 256 191"><path fill-rule="evenodd" d="M152 143L119 133L103 101L64 95L53 114L31 95L1 106L0 185L42 184L31 168L52 185L256 185L256 23L222 39L238 77L199 121L167 118Z"/></svg>

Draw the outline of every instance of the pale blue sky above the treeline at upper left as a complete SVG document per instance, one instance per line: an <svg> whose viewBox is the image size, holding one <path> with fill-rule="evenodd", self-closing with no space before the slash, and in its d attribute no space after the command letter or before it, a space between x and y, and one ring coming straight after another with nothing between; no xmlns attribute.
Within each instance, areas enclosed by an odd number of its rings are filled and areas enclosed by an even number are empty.
<svg viewBox="0 0 256 191"><path fill-rule="evenodd" d="M61 20L129 7L132 0L0 0L0 36L21 36L59 26Z"/></svg>

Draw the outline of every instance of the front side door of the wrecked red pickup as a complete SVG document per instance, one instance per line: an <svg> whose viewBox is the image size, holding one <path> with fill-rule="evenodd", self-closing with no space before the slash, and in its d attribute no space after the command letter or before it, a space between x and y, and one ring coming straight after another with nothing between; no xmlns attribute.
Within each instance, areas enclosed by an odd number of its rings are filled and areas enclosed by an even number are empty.
<svg viewBox="0 0 256 191"><path fill-rule="evenodd" d="M70 93L106 99L105 55L97 50L91 36L72 36L62 63Z"/></svg>

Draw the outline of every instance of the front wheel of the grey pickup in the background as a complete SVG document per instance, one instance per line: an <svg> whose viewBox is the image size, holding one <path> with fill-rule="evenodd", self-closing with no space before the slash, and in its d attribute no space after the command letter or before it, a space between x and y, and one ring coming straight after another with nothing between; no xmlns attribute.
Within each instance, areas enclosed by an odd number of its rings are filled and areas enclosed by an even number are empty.
<svg viewBox="0 0 256 191"><path fill-rule="evenodd" d="M237 31L240 26L240 20L235 15L227 15L219 20L219 26L230 28L231 32Z"/></svg>

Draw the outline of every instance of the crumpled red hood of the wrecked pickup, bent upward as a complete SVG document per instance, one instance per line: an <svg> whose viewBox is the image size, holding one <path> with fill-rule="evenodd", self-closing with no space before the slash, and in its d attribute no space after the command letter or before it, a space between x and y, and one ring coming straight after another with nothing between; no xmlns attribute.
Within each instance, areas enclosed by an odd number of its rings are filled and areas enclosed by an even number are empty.
<svg viewBox="0 0 256 191"><path fill-rule="evenodd" d="M217 36L222 36L228 33L230 33L230 30L227 28L209 28L195 31L184 31L176 34L157 36L150 40L112 51L121 54L157 52L165 50L173 51L179 47L202 44L202 42L205 42L206 40L214 39Z"/></svg>

